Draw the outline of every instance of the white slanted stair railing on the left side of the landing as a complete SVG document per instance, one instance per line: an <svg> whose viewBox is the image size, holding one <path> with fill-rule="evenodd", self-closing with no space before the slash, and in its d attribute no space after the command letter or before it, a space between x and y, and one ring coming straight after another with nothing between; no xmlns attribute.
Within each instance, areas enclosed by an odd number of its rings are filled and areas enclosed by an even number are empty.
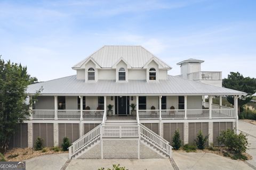
<svg viewBox="0 0 256 170"><path fill-rule="evenodd" d="M101 137L101 127L102 124L99 124L94 129L84 134L81 138L77 139L75 142L71 144L68 148L69 150L69 159L77 152L81 151L84 147L89 146L96 139Z"/></svg>

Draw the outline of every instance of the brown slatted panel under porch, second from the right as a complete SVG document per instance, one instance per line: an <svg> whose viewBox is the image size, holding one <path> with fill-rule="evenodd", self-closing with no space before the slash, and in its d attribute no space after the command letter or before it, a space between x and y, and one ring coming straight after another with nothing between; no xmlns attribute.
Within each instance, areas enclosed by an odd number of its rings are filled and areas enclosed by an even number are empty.
<svg viewBox="0 0 256 170"><path fill-rule="evenodd" d="M204 122L204 123L189 123L188 124L188 143L190 145L195 145L195 140L197 137L197 133L199 132L199 130L202 130L203 135L209 135L208 132L208 123ZM208 142L206 142L207 145Z"/></svg>

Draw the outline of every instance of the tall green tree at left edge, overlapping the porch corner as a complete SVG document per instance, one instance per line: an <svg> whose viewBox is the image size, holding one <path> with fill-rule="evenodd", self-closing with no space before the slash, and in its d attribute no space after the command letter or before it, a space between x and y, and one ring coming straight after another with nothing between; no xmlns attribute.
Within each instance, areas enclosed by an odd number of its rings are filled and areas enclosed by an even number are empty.
<svg viewBox="0 0 256 170"><path fill-rule="evenodd" d="M37 82L30 77L27 67L21 64L4 62L0 56L0 152L4 153L9 141L29 113L26 104L26 89ZM39 90L40 91L40 90ZM39 92L38 91L38 92ZM31 101L32 102L32 101Z"/></svg>

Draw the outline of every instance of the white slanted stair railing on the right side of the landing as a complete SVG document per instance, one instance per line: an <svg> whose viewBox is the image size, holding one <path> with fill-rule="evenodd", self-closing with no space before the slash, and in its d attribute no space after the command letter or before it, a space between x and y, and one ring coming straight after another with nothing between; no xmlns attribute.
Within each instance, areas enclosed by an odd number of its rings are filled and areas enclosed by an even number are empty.
<svg viewBox="0 0 256 170"><path fill-rule="evenodd" d="M160 137L155 132L148 129L146 126L140 124L141 129L147 131L150 135L146 135L145 133L142 133L140 130L140 137L145 139L147 142L149 142L154 147L158 148L162 152L164 152L166 155L171 157L172 154L172 146L169 145L170 142L165 140L164 138ZM153 138L156 138L157 140L154 140Z"/></svg>

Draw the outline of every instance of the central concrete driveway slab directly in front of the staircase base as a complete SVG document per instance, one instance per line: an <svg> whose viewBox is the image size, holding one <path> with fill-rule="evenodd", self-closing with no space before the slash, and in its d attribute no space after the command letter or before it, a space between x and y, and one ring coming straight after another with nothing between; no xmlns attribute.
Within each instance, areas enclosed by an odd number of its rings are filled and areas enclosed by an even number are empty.
<svg viewBox="0 0 256 170"><path fill-rule="evenodd" d="M73 159L66 169L98 170L101 167L111 168L113 164L129 170L173 170L169 159Z"/></svg>

